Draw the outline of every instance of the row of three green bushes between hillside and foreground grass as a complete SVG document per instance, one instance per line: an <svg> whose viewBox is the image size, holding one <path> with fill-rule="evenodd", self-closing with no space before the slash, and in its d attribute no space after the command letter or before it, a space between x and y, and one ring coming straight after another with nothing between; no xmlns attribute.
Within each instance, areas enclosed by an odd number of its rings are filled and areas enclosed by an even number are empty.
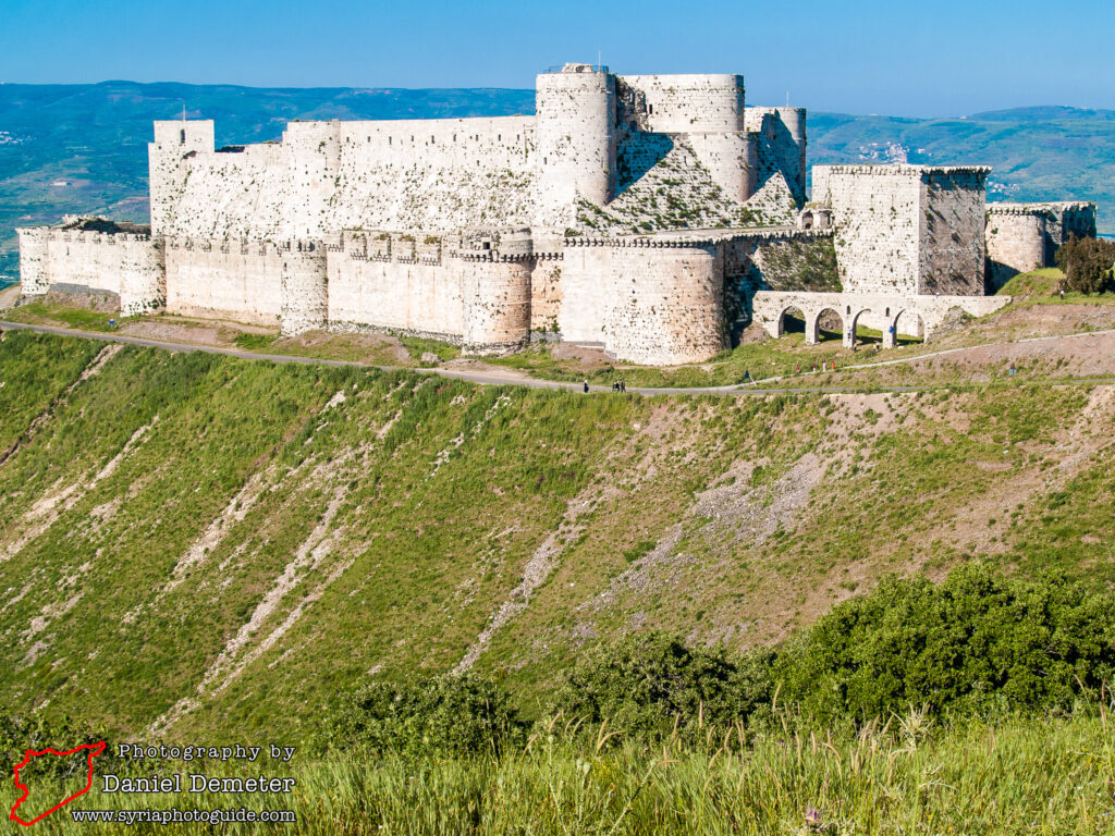
<svg viewBox="0 0 1115 836"><path fill-rule="evenodd" d="M886 579L777 650L729 655L665 633L600 643L563 674L547 708L582 729L607 722L624 737L698 742L711 728L774 728L784 710L830 729L910 710L1045 716L1111 699L1113 683L1115 595L971 564L940 584ZM498 751L527 732L510 694L479 674L366 684L329 729L334 747L381 754Z"/></svg>

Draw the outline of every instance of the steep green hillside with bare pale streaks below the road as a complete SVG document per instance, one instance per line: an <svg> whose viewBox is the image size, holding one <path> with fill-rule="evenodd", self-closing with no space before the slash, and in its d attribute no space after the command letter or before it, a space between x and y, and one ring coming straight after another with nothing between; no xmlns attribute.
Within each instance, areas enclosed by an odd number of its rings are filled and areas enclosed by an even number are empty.
<svg viewBox="0 0 1115 836"><path fill-rule="evenodd" d="M1115 581L1115 388L582 396L9 332L0 699L299 739L338 688L769 643L975 555Z"/></svg>

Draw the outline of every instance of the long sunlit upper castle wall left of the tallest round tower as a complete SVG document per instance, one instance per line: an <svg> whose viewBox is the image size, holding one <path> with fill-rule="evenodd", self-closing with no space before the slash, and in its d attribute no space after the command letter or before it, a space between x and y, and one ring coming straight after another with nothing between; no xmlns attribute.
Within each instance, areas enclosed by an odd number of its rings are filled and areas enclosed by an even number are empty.
<svg viewBox="0 0 1115 836"><path fill-rule="evenodd" d="M156 123L156 137L167 125L182 123ZM172 128L171 139L193 126ZM156 142L153 225L176 236L287 240L526 224L533 132L533 117L330 121L291 123L282 143L234 152Z"/></svg>

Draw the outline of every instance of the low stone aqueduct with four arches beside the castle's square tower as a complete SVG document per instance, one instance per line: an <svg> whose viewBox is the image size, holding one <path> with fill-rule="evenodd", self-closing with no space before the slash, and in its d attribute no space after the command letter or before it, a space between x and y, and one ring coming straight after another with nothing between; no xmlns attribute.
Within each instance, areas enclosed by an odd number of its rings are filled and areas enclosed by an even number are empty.
<svg viewBox="0 0 1115 836"><path fill-rule="evenodd" d="M794 291L759 291L752 302L752 321L763 325L772 337L782 337L785 314L797 309L805 317L805 342L813 344L820 337L821 317L826 311L841 321L845 348L855 344L856 325L864 324L883 334L883 348L894 348L904 325L921 321L922 333L929 340L933 329L948 313L959 308L972 317L983 317L1010 302L1009 297L938 297L874 293L805 293ZM902 320L900 325L899 320Z"/></svg>

